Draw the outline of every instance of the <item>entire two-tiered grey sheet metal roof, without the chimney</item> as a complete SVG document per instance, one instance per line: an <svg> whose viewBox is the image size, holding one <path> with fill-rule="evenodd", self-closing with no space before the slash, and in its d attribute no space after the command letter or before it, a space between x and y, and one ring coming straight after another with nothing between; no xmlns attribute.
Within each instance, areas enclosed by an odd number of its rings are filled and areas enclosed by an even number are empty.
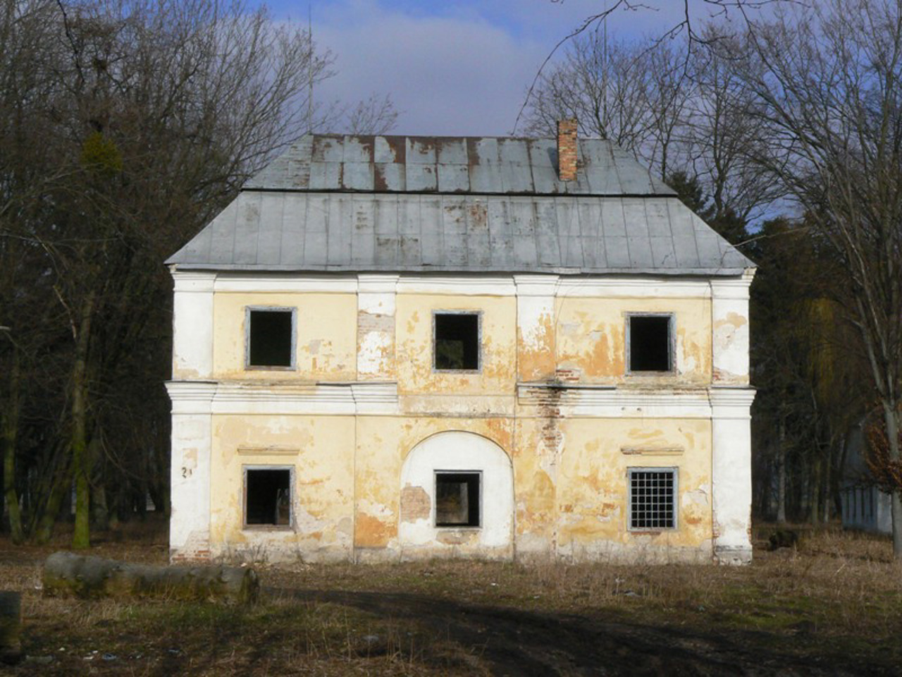
<svg viewBox="0 0 902 677"><path fill-rule="evenodd" d="M168 264L245 271L736 275L754 267L639 163L508 138L306 136ZM431 178L430 178L431 177Z"/></svg>

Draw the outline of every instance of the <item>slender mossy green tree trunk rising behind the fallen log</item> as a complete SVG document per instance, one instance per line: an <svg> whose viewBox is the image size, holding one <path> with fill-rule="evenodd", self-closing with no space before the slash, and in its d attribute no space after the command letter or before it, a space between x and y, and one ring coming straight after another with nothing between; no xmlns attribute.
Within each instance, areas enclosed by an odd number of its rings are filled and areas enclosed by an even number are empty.
<svg viewBox="0 0 902 677"><path fill-rule="evenodd" d="M72 547L90 545L90 459L87 449L87 350L94 314L94 292L89 292L81 309L72 372L72 474L75 479L75 531Z"/></svg>

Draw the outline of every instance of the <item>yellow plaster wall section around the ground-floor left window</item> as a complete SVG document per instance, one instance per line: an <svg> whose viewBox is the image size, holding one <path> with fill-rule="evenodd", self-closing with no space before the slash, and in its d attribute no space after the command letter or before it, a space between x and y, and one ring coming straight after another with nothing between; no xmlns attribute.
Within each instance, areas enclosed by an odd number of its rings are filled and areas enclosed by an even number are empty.
<svg viewBox="0 0 902 677"><path fill-rule="evenodd" d="M354 516L354 420L342 416L213 417L210 543L241 548L265 535L316 550L348 547ZM292 529L244 529L244 466L295 469Z"/></svg>

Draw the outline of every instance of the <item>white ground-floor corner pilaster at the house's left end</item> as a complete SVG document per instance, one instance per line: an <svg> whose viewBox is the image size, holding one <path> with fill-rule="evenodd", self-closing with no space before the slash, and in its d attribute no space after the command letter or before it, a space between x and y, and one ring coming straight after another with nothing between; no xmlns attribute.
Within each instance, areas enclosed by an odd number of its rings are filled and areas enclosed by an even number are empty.
<svg viewBox="0 0 902 677"><path fill-rule="evenodd" d="M210 556L210 456L216 384L166 384L172 401L170 559Z"/></svg>

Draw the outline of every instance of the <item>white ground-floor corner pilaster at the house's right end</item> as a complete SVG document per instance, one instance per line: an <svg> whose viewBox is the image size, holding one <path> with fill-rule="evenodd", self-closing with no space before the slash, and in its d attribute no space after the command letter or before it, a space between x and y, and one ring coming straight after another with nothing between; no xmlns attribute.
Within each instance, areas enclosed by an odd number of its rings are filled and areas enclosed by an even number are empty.
<svg viewBox="0 0 902 677"><path fill-rule="evenodd" d="M711 389L713 556L751 561L751 388Z"/></svg>

